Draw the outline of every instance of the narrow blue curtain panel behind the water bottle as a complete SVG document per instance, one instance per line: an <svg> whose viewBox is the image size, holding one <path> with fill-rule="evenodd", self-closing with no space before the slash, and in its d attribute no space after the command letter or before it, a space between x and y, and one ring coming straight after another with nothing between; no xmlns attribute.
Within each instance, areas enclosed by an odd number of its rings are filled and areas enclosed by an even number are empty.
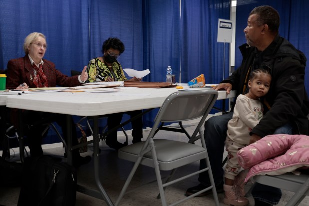
<svg viewBox="0 0 309 206"><path fill-rule="evenodd" d="M180 67L179 0L143 0L144 68L146 81L166 81L171 66L178 81Z"/></svg>

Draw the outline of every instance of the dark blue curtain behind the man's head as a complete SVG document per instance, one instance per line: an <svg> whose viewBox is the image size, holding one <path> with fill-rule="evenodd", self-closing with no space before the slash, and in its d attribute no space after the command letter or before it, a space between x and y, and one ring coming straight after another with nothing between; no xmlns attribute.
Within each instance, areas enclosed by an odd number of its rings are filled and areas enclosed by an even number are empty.
<svg viewBox="0 0 309 206"><path fill-rule="evenodd" d="M288 39L297 49L303 51L309 58L309 1L308 0L237 0L236 10L236 39L235 39L235 68L240 66L242 55L238 46L246 43L244 29L250 11L260 5L270 5L278 10L280 14L279 34ZM309 65L307 61L305 87L309 92Z"/></svg>

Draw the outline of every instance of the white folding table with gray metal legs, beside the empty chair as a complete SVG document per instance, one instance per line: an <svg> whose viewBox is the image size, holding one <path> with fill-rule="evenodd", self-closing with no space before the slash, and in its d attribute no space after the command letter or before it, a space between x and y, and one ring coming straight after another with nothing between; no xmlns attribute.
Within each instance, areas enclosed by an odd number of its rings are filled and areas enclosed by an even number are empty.
<svg viewBox="0 0 309 206"><path fill-rule="evenodd" d="M119 89L119 88L118 88ZM98 116L161 107L168 95L178 91L176 88L125 88L115 93L88 92L51 92L31 95L14 95L6 97L6 107L26 109L42 112L66 114L67 127L71 128L71 115L92 116L93 118L93 147L94 147L94 176L99 191L78 186L78 192L104 199L109 206L113 206L99 180L99 135ZM236 92L219 91L218 100L235 97ZM71 131L68 130L68 137ZM72 140L67 140L68 163L72 163Z"/></svg>

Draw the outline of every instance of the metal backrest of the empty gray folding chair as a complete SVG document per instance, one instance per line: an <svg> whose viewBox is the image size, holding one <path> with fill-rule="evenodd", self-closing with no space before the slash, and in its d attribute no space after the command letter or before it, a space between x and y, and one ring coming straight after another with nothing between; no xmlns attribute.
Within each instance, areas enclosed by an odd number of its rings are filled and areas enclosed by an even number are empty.
<svg viewBox="0 0 309 206"><path fill-rule="evenodd" d="M155 118L153 128L157 128L161 122L181 122L202 117L192 135L195 136L198 133L198 128L205 122L217 97L218 92L216 90L201 89L174 92L165 99Z"/></svg>

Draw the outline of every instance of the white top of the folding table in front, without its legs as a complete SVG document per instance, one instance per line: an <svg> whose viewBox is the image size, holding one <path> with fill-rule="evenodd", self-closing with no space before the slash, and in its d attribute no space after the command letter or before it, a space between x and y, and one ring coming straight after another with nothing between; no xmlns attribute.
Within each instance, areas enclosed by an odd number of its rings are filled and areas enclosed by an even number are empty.
<svg viewBox="0 0 309 206"><path fill-rule="evenodd" d="M6 107L61 114L96 116L157 108L176 88L130 89L124 93L53 92L6 96ZM219 91L218 100L235 97L236 92ZM123 95L123 96L122 96ZM1 100L1 99L0 99ZM0 101L1 102L1 101Z"/></svg>

